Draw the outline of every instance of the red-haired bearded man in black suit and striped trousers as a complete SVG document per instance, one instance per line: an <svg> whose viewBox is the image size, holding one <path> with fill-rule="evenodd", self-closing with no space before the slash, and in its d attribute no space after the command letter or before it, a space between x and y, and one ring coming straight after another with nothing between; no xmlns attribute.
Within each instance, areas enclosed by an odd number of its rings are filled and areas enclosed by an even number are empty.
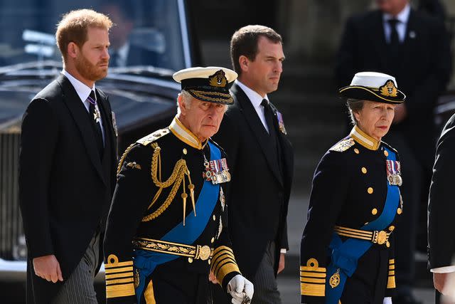
<svg viewBox="0 0 455 304"><path fill-rule="evenodd" d="M75 26L77 25L77 26ZM20 204L28 247L28 303L97 303L93 287L115 186L117 136L107 95L112 21L89 9L55 33L63 71L22 122Z"/></svg>

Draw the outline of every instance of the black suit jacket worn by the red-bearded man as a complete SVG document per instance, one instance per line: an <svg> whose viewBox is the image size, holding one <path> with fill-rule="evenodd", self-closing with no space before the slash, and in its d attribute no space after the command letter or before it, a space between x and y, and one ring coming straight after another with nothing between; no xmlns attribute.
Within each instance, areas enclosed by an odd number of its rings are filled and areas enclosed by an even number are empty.
<svg viewBox="0 0 455 304"><path fill-rule="evenodd" d="M41 90L23 115L19 195L31 303L50 303L62 284L36 276L33 258L55 254L65 280L95 231L105 226L115 186L117 138L109 101L100 90L97 103L105 128L101 159L90 115L64 75Z"/></svg>

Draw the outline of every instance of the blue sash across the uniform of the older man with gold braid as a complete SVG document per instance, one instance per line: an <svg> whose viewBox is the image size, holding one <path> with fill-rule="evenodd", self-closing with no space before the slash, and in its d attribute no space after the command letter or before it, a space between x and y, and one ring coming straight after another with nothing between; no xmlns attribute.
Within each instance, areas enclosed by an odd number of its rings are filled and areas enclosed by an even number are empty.
<svg viewBox="0 0 455 304"><path fill-rule="evenodd" d="M221 152L212 143L208 142L210 147L210 160L220 159ZM198 201L196 201L196 215L193 212L188 214L185 219L185 226L183 221L175 226L171 231L161 238L161 241L168 241L173 243L192 244L203 233L210 216L215 209L218 201L218 194L220 193L220 185L212 184L205 180L203 187L200 190ZM173 261L179 256L158 253L154 251L135 250L134 251L134 271L139 270L139 285L136 288L137 303L141 303L141 296L144 292L145 281L151 273L154 272L156 266L168 261Z"/></svg>

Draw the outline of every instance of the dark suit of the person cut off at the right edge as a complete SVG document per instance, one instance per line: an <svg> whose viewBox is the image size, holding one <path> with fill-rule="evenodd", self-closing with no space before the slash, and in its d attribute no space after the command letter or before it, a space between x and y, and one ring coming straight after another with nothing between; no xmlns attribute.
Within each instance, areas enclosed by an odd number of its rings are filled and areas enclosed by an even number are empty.
<svg viewBox="0 0 455 304"><path fill-rule="evenodd" d="M437 144L432 184L428 201L428 248L429 268L435 273L455 272L455 115L449 119ZM437 285L437 284L435 284ZM437 295L439 296L439 295ZM437 303L439 303L437 299Z"/></svg>

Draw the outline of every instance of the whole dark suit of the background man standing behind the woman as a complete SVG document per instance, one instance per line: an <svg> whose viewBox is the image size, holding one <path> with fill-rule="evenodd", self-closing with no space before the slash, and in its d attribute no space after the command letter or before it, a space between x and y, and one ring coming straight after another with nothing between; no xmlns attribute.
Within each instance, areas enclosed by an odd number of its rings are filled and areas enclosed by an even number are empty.
<svg viewBox="0 0 455 304"><path fill-rule="evenodd" d="M448 83L451 58L446 29L441 21L410 9L397 51L390 46L390 34L387 36L385 28L391 33L389 23L383 21L379 10L348 19L338 51L336 77L338 85L344 86L349 85L359 70L374 70L395 75L398 85L407 93L407 116L392 126L385 141L400 151L403 179L407 181L402 186L405 211L400 229L396 231L395 252L397 294L410 298L417 210L426 206L423 201L427 199L434 155L432 112L437 96ZM423 213L422 210L422 217ZM394 299L394 303L400 301ZM402 303L412 303L412 300Z"/></svg>

